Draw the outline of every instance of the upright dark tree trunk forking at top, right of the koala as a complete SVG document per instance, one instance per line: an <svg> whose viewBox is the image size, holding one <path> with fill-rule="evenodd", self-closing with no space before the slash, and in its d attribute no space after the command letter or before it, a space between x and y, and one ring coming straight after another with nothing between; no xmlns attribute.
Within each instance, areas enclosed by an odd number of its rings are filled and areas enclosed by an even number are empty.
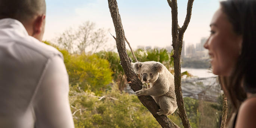
<svg viewBox="0 0 256 128"><path fill-rule="evenodd" d="M185 30L188 27L188 24L191 19L191 12L194 0L188 0L187 5L187 13L185 22L183 26L180 28L178 24L178 5L177 0L167 0L169 6L172 9L172 46L174 50L173 58L174 58L174 81L175 81L175 94L177 98L178 105L178 115L181 118L182 124L184 128L191 128L188 116L186 115L186 109L182 97L181 90L181 50L183 44L183 35Z"/></svg>

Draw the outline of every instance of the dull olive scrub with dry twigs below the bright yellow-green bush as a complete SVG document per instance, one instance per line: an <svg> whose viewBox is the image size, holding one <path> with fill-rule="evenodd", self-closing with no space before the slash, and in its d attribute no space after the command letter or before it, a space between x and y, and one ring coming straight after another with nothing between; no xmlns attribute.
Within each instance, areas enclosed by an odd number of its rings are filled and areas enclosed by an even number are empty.
<svg viewBox="0 0 256 128"><path fill-rule="evenodd" d="M116 86L103 95L70 87L75 128L161 128L137 96L119 92Z"/></svg>

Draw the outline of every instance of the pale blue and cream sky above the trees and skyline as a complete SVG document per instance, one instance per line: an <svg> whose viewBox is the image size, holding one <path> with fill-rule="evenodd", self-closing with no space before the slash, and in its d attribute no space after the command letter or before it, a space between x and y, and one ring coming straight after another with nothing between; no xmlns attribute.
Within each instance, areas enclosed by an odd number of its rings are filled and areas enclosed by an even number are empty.
<svg viewBox="0 0 256 128"><path fill-rule="evenodd" d="M178 1L178 23L183 25L188 0ZM117 0L124 33L133 48L137 46L167 47L172 44L171 8L167 0ZM107 0L46 0L46 27L44 40L54 42L70 27L78 27L86 21L96 23L97 28L110 29L115 35L114 24ZM200 43L210 35L210 21L219 8L219 0L195 0L192 16L183 40L186 46ZM107 35L109 45L115 40Z"/></svg>

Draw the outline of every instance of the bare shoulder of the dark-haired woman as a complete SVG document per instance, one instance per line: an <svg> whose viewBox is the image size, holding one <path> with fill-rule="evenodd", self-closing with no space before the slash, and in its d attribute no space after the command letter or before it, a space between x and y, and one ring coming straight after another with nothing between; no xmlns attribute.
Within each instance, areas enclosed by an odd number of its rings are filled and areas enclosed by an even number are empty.
<svg viewBox="0 0 256 128"><path fill-rule="evenodd" d="M256 96L244 101L238 111L235 128L253 128L256 126Z"/></svg>

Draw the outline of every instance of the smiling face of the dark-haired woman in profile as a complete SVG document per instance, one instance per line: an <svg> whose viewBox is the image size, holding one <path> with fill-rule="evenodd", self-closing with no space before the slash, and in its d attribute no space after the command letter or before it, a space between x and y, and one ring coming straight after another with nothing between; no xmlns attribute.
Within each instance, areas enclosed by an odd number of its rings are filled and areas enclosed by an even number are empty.
<svg viewBox="0 0 256 128"><path fill-rule="evenodd" d="M218 9L210 23L211 34L204 44L216 75L230 76L241 50L242 36L237 35L228 17Z"/></svg>

